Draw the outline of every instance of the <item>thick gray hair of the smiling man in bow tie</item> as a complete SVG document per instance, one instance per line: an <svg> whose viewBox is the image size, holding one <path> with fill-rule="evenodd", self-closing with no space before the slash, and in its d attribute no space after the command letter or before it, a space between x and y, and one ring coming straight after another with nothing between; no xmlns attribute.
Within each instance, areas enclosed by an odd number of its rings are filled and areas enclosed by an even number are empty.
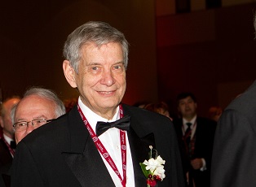
<svg viewBox="0 0 256 187"><path fill-rule="evenodd" d="M68 35L67 41L64 43L64 58L70 62L71 67L78 73L78 64L82 58L82 46L94 42L100 47L110 42L121 44L124 65L128 65L128 42L123 33L109 24L100 21L90 21L76 28L73 33Z"/></svg>

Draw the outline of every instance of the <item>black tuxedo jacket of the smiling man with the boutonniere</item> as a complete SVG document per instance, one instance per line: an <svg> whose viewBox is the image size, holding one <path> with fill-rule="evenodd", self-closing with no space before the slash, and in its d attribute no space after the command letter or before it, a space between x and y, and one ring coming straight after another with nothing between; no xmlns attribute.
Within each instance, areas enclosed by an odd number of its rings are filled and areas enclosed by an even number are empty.
<svg viewBox="0 0 256 187"><path fill-rule="evenodd" d="M163 115L123 105L131 117L128 133L135 185L146 185L139 166L148 159L150 145L166 160L166 178L158 186L182 187L183 171L174 127ZM74 107L51 124L34 130L20 141L11 171L12 186L115 186Z"/></svg>

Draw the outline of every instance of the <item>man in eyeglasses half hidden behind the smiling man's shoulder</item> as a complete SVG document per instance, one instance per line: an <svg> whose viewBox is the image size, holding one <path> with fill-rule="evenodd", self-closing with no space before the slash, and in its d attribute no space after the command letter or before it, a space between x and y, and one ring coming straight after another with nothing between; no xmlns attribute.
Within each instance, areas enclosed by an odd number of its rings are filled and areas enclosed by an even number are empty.
<svg viewBox="0 0 256 187"><path fill-rule="evenodd" d="M16 143L18 144L35 128L64 113L64 103L51 90L42 88L27 90L24 98L11 111Z"/></svg>

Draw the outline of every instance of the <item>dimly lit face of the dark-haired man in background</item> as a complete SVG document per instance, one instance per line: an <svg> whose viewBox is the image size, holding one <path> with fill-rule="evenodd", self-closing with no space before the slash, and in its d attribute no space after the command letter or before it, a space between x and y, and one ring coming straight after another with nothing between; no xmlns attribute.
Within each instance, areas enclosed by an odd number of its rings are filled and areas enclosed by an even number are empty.
<svg viewBox="0 0 256 187"><path fill-rule="evenodd" d="M179 100L178 111L183 115L183 118L191 119L196 115L196 107L196 102L188 96Z"/></svg>

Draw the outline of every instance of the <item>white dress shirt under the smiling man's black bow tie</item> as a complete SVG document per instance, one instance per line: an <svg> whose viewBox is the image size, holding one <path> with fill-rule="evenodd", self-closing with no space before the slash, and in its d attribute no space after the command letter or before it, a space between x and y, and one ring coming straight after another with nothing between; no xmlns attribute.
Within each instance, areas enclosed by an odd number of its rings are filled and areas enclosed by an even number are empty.
<svg viewBox="0 0 256 187"><path fill-rule="evenodd" d="M83 104L81 98L78 98L78 104L81 107L83 114L86 116L91 128L95 132L96 124L98 121L104 122L113 122L120 119L119 115L119 107L117 107L116 114L113 116L112 120L106 120L103 117L95 114L95 112L91 111L86 105ZM99 140L102 142L106 150L108 150L108 154L113 159L116 164L118 171L123 176L122 171L122 162L121 162L121 144L120 144L120 130L118 128L109 128L105 133L99 136ZM100 153L99 153L100 154ZM101 154L100 154L101 155ZM113 168L109 166L108 162L101 155L110 176L113 179L114 184L117 187L122 187L121 181L117 174L113 171ZM130 154L130 144L128 141L127 133L126 133L126 186L134 187L135 186L135 176L134 176L134 168L132 163L132 158Z"/></svg>

